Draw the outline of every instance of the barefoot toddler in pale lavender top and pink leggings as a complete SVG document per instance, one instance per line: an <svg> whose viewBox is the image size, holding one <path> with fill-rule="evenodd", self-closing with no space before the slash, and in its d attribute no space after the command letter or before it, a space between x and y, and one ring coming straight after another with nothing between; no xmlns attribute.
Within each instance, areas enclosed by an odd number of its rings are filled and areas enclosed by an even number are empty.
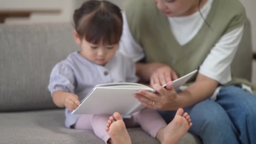
<svg viewBox="0 0 256 144"><path fill-rule="evenodd" d="M66 127L93 130L109 144L131 143L125 125L140 125L162 143L179 141L192 125L183 109L177 111L168 125L155 110L148 108L124 121L118 112L113 117L71 114L97 84L137 82L135 64L117 51L123 28L120 8L104 0L89 0L75 10L73 19L75 41L81 49L53 67L48 85L53 102L58 107L66 107Z"/></svg>

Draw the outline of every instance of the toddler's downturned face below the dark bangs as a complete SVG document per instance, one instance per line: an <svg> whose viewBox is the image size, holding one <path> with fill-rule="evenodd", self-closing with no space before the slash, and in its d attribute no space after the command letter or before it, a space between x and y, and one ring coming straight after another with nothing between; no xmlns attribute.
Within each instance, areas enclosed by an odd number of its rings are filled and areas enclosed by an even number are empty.
<svg viewBox="0 0 256 144"><path fill-rule="evenodd" d="M80 54L95 64L104 66L112 57L118 48L118 43L114 45L92 44L84 38L80 43Z"/></svg>

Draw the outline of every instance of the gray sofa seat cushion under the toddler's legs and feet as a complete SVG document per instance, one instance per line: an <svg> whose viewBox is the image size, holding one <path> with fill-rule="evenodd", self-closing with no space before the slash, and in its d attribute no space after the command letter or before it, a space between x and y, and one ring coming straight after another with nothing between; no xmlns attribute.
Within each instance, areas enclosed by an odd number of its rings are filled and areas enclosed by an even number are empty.
<svg viewBox="0 0 256 144"><path fill-rule="evenodd" d="M64 110L0 113L0 144L104 144L93 131L64 127ZM160 144L141 128L128 128L133 144ZM187 133L179 144L201 144Z"/></svg>

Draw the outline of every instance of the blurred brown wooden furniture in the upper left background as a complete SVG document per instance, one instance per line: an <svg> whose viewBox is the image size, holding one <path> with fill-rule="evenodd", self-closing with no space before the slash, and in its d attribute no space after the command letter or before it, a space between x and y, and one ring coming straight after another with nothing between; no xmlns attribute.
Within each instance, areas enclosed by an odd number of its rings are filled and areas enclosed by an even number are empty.
<svg viewBox="0 0 256 144"><path fill-rule="evenodd" d="M58 9L5 9L0 10L0 23L4 23L6 18L23 17L28 18L32 13L59 14Z"/></svg>

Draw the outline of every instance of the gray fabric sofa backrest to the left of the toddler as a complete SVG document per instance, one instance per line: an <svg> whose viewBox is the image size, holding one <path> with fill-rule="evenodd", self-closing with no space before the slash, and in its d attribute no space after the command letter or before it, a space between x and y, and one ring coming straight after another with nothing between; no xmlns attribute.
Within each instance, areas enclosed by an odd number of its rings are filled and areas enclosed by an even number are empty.
<svg viewBox="0 0 256 144"><path fill-rule="evenodd" d="M56 108L53 66L79 50L71 24L0 25L0 112Z"/></svg>

